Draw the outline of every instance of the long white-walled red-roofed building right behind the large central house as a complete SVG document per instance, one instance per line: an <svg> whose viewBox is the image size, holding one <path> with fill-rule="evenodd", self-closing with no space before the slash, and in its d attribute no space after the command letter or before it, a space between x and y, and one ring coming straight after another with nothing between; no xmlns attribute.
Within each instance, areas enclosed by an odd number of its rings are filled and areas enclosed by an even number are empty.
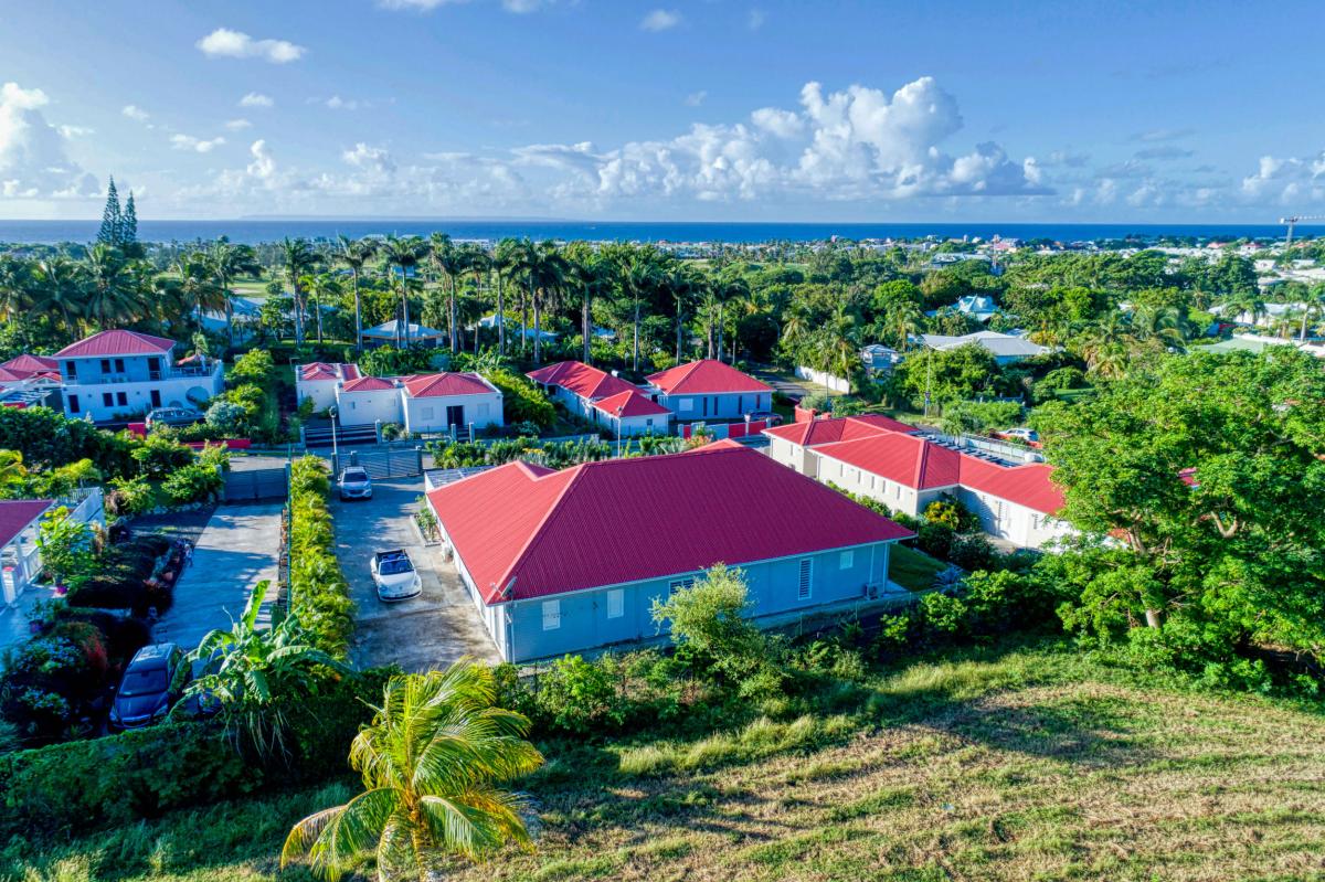
<svg viewBox="0 0 1325 882"><path fill-rule="evenodd" d="M794 422L763 433L776 462L913 518L951 497L979 516L984 532L1016 546L1040 548L1073 532L1056 516L1063 490L1044 462L1004 465L885 416Z"/></svg>

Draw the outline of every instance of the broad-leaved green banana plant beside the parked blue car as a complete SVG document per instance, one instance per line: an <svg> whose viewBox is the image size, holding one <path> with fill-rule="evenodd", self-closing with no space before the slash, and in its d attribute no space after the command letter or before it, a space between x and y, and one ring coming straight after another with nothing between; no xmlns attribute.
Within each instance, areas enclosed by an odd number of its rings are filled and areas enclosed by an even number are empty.
<svg viewBox="0 0 1325 882"><path fill-rule="evenodd" d="M264 755L284 752L289 726L285 709L313 697L321 667L348 671L314 646L311 633L294 613L272 629L258 622L266 587L266 581L257 583L238 621L229 630L208 633L188 656L189 663L203 665L188 694L220 702L231 735L245 734Z"/></svg>

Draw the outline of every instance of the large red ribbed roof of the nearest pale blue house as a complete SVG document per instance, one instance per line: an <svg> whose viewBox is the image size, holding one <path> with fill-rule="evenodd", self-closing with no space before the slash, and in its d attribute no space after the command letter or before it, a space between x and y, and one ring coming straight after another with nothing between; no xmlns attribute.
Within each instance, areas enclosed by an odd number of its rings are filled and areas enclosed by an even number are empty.
<svg viewBox="0 0 1325 882"><path fill-rule="evenodd" d="M513 580L519 600L913 535L741 445L563 471L511 462L428 499L489 604Z"/></svg>

